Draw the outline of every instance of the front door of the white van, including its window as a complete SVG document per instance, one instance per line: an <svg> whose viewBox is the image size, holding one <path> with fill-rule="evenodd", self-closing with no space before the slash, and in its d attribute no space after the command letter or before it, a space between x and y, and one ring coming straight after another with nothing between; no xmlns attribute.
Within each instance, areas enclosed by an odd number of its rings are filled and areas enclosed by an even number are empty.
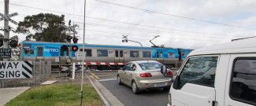
<svg viewBox="0 0 256 106"><path fill-rule="evenodd" d="M215 72L219 56L189 57L170 90L176 106L212 106L215 103Z"/></svg>

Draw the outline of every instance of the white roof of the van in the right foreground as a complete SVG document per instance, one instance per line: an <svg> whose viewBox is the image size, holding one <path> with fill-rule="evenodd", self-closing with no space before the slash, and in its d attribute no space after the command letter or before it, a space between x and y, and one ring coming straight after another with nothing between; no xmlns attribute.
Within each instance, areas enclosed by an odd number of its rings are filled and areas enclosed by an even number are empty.
<svg viewBox="0 0 256 106"><path fill-rule="evenodd" d="M256 38L247 38L195 49L189 56L222 53L256 53Z"/></svg>

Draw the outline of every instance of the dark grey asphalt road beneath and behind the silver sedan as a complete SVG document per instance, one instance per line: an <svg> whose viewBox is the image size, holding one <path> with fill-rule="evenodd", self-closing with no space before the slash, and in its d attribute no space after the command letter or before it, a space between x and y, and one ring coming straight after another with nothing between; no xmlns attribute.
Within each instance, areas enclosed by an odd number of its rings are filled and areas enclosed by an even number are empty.
<svg viewBox="0 0 256 106"><path fill-rule="evenodd" d="M117 80L99 81L125 106L166 106L169 90L148 90L139 94L125 85L118 85Z"/></svg>

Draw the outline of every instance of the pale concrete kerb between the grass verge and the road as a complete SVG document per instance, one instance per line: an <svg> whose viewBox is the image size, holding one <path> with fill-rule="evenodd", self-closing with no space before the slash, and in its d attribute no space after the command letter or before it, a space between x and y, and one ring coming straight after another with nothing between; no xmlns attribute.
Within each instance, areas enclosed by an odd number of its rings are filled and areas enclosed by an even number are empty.
<svg viewBox="0 0 256 106"><path fill-rule="evenodd" d="M111 106L124 106L121 101L117 99L109 90L106 89L105 86L103 86L98 80L95 79L95 77L89 77L94 85L97 87L97 89L102 93L103 97L106 98L106 101L109 102Z"/></svg>

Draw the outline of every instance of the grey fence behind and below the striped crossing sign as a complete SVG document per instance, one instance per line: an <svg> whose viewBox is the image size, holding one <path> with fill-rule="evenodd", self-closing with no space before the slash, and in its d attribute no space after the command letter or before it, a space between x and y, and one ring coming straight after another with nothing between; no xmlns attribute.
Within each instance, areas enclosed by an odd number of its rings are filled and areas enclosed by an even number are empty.
<svg viewBox="0 0 256 106"><path fill-rule="evenodd" d="M30 79L0 79L0 87L35 86L45 81L51 74L51 61L32 61L33 71Z"/></svg>

